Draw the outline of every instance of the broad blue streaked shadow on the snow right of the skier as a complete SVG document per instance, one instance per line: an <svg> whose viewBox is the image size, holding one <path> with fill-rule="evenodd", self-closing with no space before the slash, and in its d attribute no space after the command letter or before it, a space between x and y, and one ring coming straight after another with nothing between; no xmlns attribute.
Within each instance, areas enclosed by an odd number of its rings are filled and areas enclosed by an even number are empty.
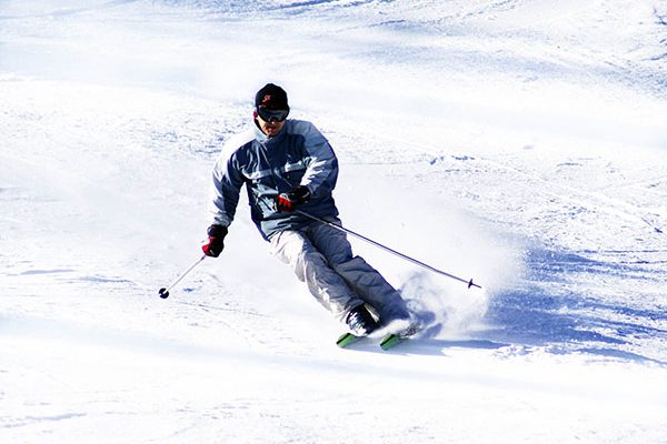
<svg viewBox="0 0 667 444"><path fill-rule="evenodd" d="M588 353L667 365L667 313L641 301L637 280L659 282L656 272L625 263L600 262L573 253L532 251L522 287L495 294L481 333L494 343L545 347L555 354ZM603 278L594 290L578 278ZM635 294L620 301L617 285ZM639 289L639 290L635 290Z"/></svg>

